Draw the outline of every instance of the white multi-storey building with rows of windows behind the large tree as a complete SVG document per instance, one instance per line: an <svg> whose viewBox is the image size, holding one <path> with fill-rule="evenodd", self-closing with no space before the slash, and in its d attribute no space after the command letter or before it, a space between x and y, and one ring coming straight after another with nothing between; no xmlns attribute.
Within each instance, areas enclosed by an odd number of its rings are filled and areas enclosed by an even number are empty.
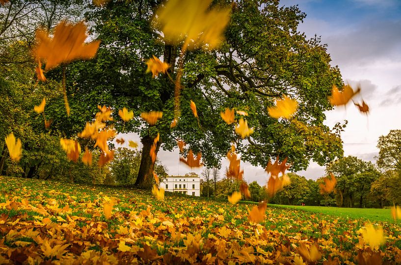
<svg viewBox="0 0 401 265"><path fill-rule="evenodd" d="M200 196L200 178L198 175L168 176L163 182L160 182L160 188L170 193Z"/></svg>

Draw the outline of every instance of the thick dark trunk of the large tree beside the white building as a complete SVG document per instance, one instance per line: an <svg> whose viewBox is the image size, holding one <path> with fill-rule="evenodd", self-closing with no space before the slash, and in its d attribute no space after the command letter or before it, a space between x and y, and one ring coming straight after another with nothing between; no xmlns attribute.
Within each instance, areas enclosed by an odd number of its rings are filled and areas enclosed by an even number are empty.
<svg viewBox="0 0 401 265"><path fill-rule="evenodd" d="M134 186L139 189L150 190L153 185L153 168L152 158L150 157L150 148L153 145L154 138L146 136L141 139L142 157L139 165L138 176L136 177ZM156 145L156 154L159 151L160 142Z"/></svg>

